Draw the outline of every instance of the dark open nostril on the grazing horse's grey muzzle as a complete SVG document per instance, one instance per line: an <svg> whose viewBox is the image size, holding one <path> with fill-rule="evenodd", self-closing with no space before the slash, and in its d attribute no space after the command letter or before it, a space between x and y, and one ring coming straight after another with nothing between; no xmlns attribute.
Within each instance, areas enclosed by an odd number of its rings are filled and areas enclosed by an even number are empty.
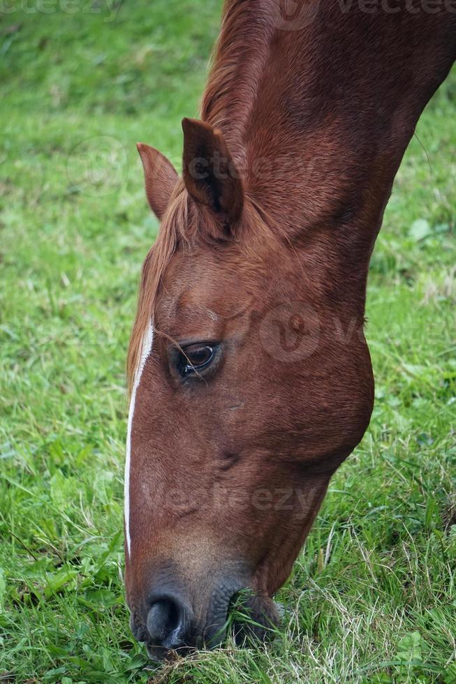
<svg viewBox="0 0 456 684"><path fill-rule="evenodd" d="M163 597L155 601L147 615L147 632L152 646L181 646L184 624L184 606L179 600L174 597Z"/></svg>

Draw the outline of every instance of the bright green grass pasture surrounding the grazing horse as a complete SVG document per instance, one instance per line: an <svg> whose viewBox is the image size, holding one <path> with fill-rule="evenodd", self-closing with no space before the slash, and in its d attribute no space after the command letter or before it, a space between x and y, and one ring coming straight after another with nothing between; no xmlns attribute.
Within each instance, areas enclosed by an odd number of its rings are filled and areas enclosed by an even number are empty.
<svg viewBox="0 0 456 684"><path fill-rule="evenodd" d="M145 670L122 581L124 357L157 229L135 142L179 163L220 3L24 6L0 15L0 681L456 682L456 74L385 215L376 408L279 594L283 629Z"/></svg>

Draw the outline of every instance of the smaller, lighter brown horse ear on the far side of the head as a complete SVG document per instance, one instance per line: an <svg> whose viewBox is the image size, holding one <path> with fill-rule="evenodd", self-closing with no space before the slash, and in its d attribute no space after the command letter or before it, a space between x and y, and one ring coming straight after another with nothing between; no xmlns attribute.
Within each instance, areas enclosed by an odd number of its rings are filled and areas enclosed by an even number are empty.
<svg viewBox="0 0 456 684"><path fill-rule="evenodd" d="M177 183L177 172L170 161L154 147L136 145L140 153L146 183L146 195L155 216L161 221Z"/></svg>

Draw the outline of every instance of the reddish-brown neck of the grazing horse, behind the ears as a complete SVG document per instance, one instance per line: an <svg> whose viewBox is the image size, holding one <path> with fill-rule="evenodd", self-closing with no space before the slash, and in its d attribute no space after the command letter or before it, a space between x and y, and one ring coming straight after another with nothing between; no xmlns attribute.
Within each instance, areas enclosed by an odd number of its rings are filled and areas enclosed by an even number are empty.
<svg viewBox="0 0 456 684"><path fill-rule="evenodd" d="M279 4L228 0L202 117L255 204L362 292L399 163L455 59L456 15L320 0L284 30Z"/></svg>

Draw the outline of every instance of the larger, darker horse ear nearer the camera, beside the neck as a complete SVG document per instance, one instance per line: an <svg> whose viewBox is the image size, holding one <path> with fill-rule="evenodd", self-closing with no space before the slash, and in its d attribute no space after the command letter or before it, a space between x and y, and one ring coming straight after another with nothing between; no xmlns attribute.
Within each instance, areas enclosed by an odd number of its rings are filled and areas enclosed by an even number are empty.
<svg viewBox="0 0 456 684"><path fill-rule="evenodd" d="M196 202L235 223L242 214L244 191L221 131L196 119L184 119L182 130L186 189Z"/></svg>

